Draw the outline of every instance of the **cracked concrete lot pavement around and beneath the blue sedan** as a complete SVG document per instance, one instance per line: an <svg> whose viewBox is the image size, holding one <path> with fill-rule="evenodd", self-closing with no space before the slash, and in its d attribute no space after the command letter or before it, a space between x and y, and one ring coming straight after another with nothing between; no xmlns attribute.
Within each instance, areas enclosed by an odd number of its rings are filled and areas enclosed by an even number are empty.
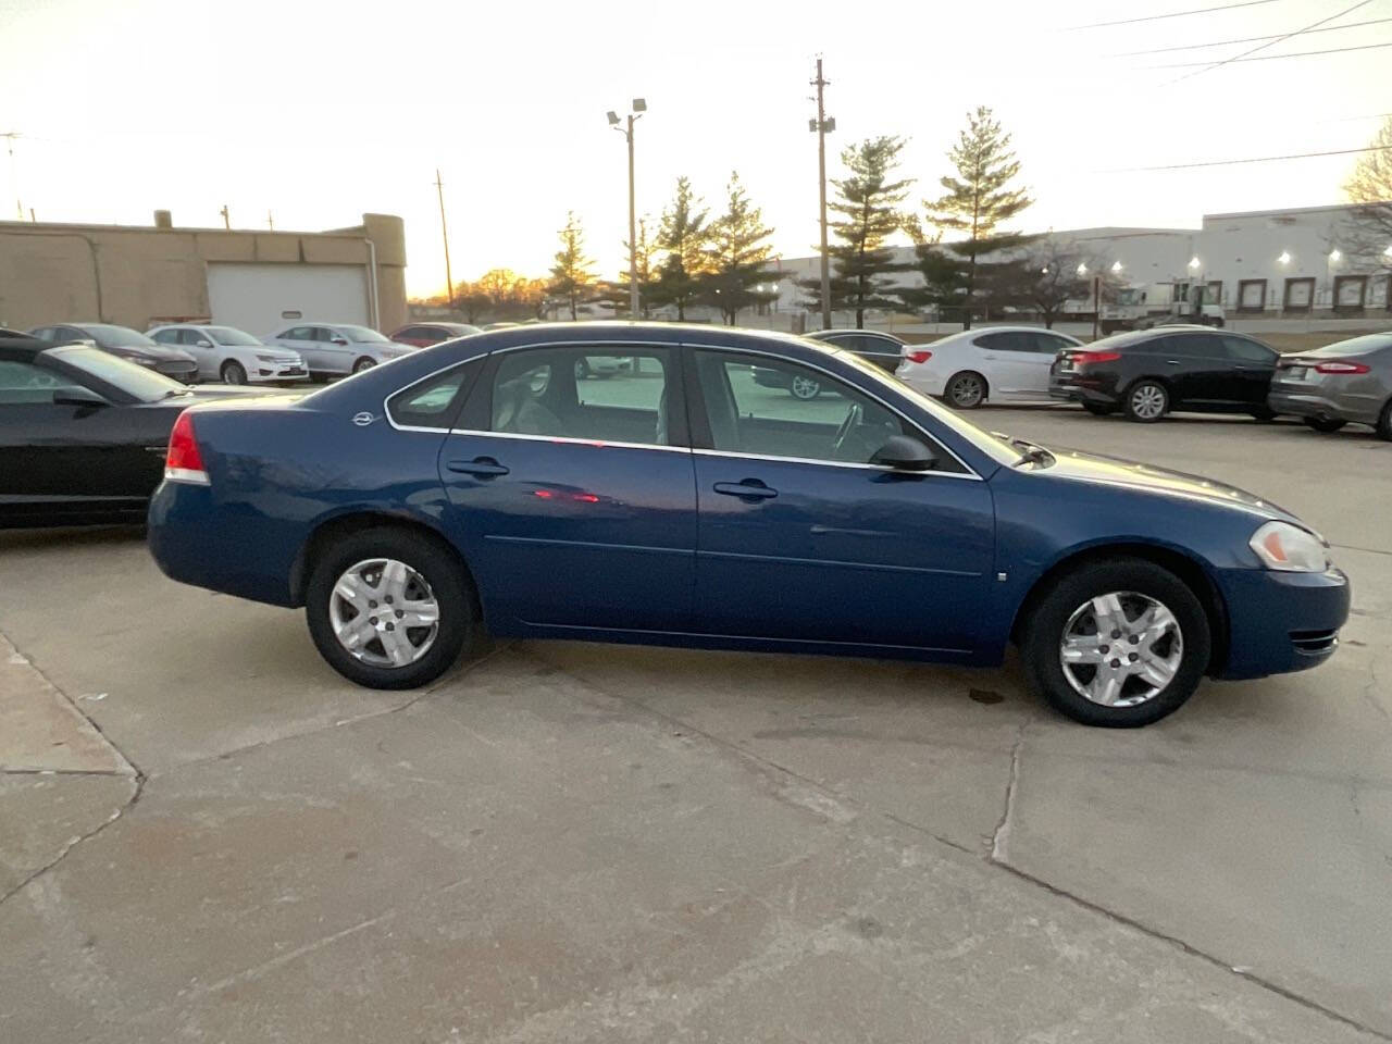
<svg viewBox="0 0 1392 1044"><path fill-rule="evenodd" d="M0 775L0 1038L1392 1040L1392 447L981 420L1303 514L1345 647L1123 734L1011 665L535 643L373 693L129 533L0 535L0 631L138 767Z"/></svg>

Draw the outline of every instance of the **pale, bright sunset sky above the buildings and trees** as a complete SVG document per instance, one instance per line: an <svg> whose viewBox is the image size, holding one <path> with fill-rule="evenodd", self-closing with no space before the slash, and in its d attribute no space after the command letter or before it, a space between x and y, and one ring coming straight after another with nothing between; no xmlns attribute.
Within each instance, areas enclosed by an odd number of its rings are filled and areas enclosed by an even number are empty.
<svg viewBox="0 0 1392 1044"><path fill-rule="evenodd" d="M433 185L445 181L455 280L544 274L574 209L600 274L625 266L626 155L608 109L647 99L638 207L678 174L714 209L732 168L807 256L817 237L813 60L825 60L828 174L870 135L909 139L915 199L934 196L965 113L995 109L1037 203L1027 231L1197 227L1204 213L1338 202L1353 156L1157 173L1119 167L1349 149L1392 113L1392 47L1192 70L1256 43L1116 57L1299 29L1354 0L1065 31L1225 0L908 0L878 4L0 0L0 216L323 230L363 212L406 226L408 288L443 288ZM1332 22L1392 19L1371 0ZM856 19L862 19L857 22ZM1392 21L1261 54L1392 42ZM1256 57L1256 56L1254 56Z"/></svg>

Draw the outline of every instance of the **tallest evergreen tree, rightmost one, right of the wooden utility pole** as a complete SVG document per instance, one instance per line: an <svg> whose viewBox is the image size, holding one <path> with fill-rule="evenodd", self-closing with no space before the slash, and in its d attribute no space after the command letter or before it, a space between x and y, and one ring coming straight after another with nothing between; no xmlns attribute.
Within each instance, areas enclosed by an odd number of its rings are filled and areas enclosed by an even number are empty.
<svg viewBox="0 0 1392 1044"><path fill-rule="evenodd" d="M965 260L963 326L970 329L979 291L992 283L987 271L991 262L984 262L983 256L1009 252L1027 242L1029 237L1005 231L1002 226L1034 200L1025 188L1009 187L1019 177L1020 164L1011 150L1011 135L1001 129L986 106L967 113L966 129L948 152L948 159L956 168L956 177L949 174L941 178L945 193L935 200L924 200L923 206L930 224L965 237L949 244L948 249Z"/></svg>

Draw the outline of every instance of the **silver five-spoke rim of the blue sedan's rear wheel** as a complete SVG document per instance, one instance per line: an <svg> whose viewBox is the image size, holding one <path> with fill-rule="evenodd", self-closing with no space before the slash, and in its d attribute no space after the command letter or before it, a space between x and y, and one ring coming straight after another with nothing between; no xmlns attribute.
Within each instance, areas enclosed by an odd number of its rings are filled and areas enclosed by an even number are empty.
<svg viewBox="0 0 1392 1044"><path fill-rule="evenodd" d="M344 569L329 596L338 644L372 667L409 667L440 632L440 603L426 578L395 558L365 558Z"/></svg>

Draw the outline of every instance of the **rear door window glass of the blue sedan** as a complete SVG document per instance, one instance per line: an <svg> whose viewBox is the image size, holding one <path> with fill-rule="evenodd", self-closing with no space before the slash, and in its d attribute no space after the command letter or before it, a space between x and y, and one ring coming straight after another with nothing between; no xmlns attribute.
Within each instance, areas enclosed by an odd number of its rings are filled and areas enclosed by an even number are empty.
<svg viewBox="0 0 1392 1044"><path fill-rule="evenodd" d="M670 348L526 348L493 376L490 430L500 434L677 445L677 356Z"/></svg>

